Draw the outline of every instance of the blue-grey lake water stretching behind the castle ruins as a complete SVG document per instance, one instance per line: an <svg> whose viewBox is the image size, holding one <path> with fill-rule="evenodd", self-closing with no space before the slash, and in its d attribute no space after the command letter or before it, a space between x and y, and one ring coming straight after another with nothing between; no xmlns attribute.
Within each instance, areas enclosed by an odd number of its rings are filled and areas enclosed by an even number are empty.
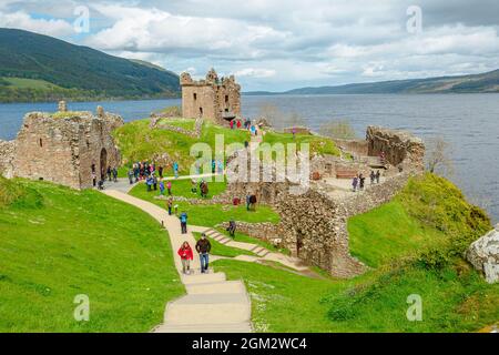
<svg viewBox="0 0 499 355"><path fill-rule="evenodd" d="M149 116L180 99L70 103L71 110L94 111L98 104L125 121ZM327 120L348 120L359 136L369 124L408 130L418 136L444 136L452 148L449 176L468 200L499 221L499 94L431 95L278 95L243 97L243 114L258 114L264 104L296 112L314 130ZM14 139L24 113L55 111L55 103L0 104L0 139Z"/></svg>

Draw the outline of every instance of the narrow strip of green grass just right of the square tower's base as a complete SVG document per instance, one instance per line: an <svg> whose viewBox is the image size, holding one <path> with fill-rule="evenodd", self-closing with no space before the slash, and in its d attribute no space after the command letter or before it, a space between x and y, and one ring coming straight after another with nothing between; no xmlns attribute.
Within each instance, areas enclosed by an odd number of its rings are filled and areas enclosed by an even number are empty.
<svg viewBox="0 0 499 355"><path fill-rule="evenodd" d="M283 143L284 145L296 143L297 150L299 150L302 143L308 143L310 145L310 154L330 154L336 156L339 156L340 154L339 149L333 140L318 135L296 134L296 136L293 138L292 133L267 132L263 138L263 142L271 145L276 143Z"/></svg>

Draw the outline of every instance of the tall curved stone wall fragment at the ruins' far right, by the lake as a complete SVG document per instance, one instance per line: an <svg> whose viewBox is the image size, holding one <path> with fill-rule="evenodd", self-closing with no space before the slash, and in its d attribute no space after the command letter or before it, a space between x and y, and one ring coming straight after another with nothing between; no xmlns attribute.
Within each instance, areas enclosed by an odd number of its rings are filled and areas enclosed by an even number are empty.
<svg viewBox="0 0 499 355"><path fill-rule="evenodd" d="M368 155L379 156L381 152L394 166L404 164L416 170L424 169L425 144L419 138L405 131L368 126L366 140Z"/></svg>

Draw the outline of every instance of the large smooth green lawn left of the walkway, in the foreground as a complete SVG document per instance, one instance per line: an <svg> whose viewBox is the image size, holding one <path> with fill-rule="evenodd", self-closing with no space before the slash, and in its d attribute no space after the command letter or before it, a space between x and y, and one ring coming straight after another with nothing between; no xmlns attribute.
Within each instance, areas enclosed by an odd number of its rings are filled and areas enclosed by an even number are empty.
<svg viewBox="0 0 499 355"><path fill-rule="evenodd" d="M147 214L49 183L9 182L0 195L12 189L0 207L0 332L147 332L184 294L167 235ZM89 322L73 318L79 294Z"/></svg>

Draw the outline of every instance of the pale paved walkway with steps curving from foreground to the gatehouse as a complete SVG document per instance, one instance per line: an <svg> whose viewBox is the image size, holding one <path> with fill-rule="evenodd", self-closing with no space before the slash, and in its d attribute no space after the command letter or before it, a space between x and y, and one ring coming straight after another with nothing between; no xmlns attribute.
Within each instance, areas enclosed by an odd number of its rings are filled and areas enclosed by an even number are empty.
<svg viewBox="0 0 499 355"><path fill-rule="evenodd" d="M187 295L166 305L164 322L156 326L155 333L248 333L251 326L251 301L242 281L226 281L224 273L211 271L200 273L200 260L194 256L191 275L182 274L182 263L176 254L181 244L187 241L195 245L192 231L181 233L180 221L155 204L112 190L103 191L109 196L130 203L149 213L165 226L169 232L175 267L181 274Z"/></svg>

